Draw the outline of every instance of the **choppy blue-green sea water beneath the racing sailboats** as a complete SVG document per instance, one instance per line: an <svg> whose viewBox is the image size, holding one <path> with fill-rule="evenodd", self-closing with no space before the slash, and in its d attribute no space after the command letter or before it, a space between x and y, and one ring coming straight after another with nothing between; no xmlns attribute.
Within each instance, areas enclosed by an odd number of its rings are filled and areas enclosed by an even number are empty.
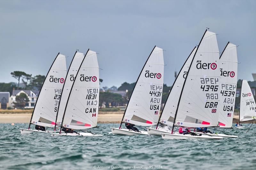
<svg viewBox="0 0 256 170"><path fill-rule="evenodd" d="M0 124L0 169L255 169L256 125L225 129L237 139L164 140L108 134L119 124L98 124L103 137L21 135L28 124Z"/></svg>

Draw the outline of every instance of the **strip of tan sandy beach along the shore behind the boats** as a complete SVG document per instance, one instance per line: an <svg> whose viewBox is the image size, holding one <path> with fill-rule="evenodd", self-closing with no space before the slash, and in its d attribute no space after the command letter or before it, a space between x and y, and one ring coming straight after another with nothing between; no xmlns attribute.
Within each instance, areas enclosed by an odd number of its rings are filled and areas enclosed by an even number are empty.
<svg viewBox="0 0 256 170"><path fill-rule="evenodd" d="M118 123L124 112L100 112L98 123ZM238 115L234 115L233 122L238 121ZM28 123L31 113L0 113L0 123Z"/></svg>

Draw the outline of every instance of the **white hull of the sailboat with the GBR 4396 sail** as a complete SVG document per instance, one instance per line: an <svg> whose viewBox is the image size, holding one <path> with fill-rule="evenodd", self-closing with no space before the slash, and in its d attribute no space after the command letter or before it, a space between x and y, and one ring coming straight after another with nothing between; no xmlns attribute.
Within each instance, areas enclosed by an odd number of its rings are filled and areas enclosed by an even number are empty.
<svg viewBox="0 0 256 170"><path fill-rule="evenodd" d="M210 137L207 135L202 136L192 136L192 135L183 135L183 134L169 134L161 133L163 139L199 139L199 140L209 140L209 139L223 139L223 137Z"/></svg>

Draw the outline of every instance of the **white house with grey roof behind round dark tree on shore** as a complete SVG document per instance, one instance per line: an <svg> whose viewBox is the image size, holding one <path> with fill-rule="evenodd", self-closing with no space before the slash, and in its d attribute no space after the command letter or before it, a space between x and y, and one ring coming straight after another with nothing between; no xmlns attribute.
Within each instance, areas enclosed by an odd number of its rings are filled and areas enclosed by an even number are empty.
<svg viewBox="0 0 256 170"><path fill-rule="evenodd" d="M39 91L36 90L13 90L12 91L12 95L10 97L10 102L11 102L11 106L14 107L13 102L15 102L16 100L16 96L20 95L20 93L25 93L28 96L28 103L26 103L26 106L24 108L34 108L35 107L35 103L36 103L36 99L38 96Z"/></svg>

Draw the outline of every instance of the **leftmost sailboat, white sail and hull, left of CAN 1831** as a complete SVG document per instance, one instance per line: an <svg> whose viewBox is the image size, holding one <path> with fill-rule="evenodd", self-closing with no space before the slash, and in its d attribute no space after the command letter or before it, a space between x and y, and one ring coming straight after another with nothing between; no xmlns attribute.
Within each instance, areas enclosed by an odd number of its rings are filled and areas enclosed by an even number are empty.
<svg viewBox="0 0 256 170"><path fill-rule="evenodd" d="M58 53L44 79L43 86L38 94L28 129L20 128L21 134L28 134L32 132L56 132L54 130L42 131L30 129L30 125L35 124L44 127L55 126L55 119L59 106L60 95L66 75L66 56Z"/></svg>

